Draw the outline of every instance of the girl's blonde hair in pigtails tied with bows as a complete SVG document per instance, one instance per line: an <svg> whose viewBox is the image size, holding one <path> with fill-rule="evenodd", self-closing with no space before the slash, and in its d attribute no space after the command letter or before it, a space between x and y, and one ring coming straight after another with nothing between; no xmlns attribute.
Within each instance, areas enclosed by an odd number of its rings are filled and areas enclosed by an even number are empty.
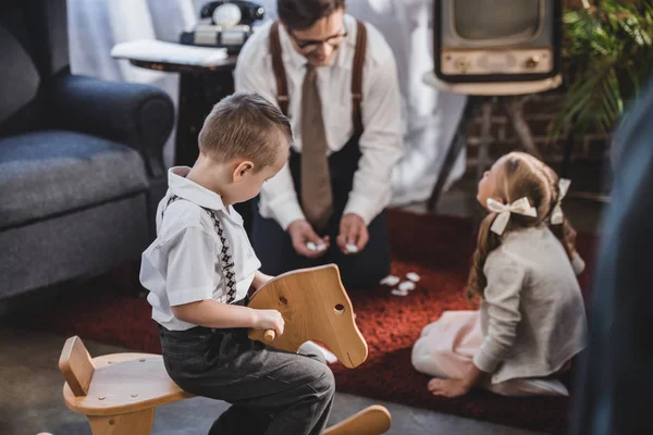
<svg viewBox="0 0 653 435"><path fill-rule="evenodd" d="M496 190L493 197L503 203L512 203L520 198L528 198L530 204L538 210L537 217L512 214L505 233L518 228L550 225L551 213L559 200L559 178L550 166L523 152L510 152L498 161ZM483 297L488 285L483 268L490 252L501 245L501 236L490 231L497 213L490 213L481 222L477 249L467 281L466 295L473 301ZM551 226L551 225L550 225ZM551 226L553 234L560 240L569 260L575 251L576 231L565 217L563 225Z"/></svg>

